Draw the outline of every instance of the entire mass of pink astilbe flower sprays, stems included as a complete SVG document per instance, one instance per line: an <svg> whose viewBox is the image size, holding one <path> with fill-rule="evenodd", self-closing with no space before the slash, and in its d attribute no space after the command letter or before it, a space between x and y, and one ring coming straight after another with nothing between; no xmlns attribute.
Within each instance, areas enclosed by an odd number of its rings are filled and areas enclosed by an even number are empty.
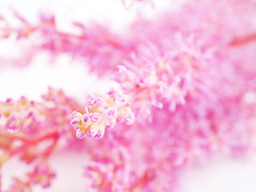
<svg viewBox="0 0 256 192"><path fill-rule="evenodd" d="M124 11L144 2L154 9L151 1L122 2ZM70 54L119 90L88 93L87 103L53 88L42 101L0 102L0 167L14 157L31 166L4 191L49 187L58 177L50 156L59 142L69 150L78 138L89 158L85 191L170 192L187 166L254 150L255 1L183 2L156 18L138 16L125 34L82 22L73 23L80 34L69 34L54 15L40 13L34 24L14 15L21 25L0 17L0 40L27 43L24 55L0 58L2 68L25 67L42 51Z"/></svg>

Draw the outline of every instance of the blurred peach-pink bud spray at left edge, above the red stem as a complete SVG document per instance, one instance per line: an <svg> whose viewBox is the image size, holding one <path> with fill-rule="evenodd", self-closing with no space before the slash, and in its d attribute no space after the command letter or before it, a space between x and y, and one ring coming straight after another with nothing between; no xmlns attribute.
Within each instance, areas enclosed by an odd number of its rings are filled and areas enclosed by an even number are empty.
<svg viewBox="0 0 256 192"><path fill-rule="evenodd" d="M35 102L22 96L18 101L7 98L0 102L1 126L10 133L19 129L24 134L38 134L41 127L51 130L68 130L66 122L72 109L78 108L74 99L66 97L62 90L49 88L47 94L42 95L43 102ZM46 111L48 111L46 113ZM62 130L59 130L62 126ZM3 130L1 130L3 132Z"/></svg>

